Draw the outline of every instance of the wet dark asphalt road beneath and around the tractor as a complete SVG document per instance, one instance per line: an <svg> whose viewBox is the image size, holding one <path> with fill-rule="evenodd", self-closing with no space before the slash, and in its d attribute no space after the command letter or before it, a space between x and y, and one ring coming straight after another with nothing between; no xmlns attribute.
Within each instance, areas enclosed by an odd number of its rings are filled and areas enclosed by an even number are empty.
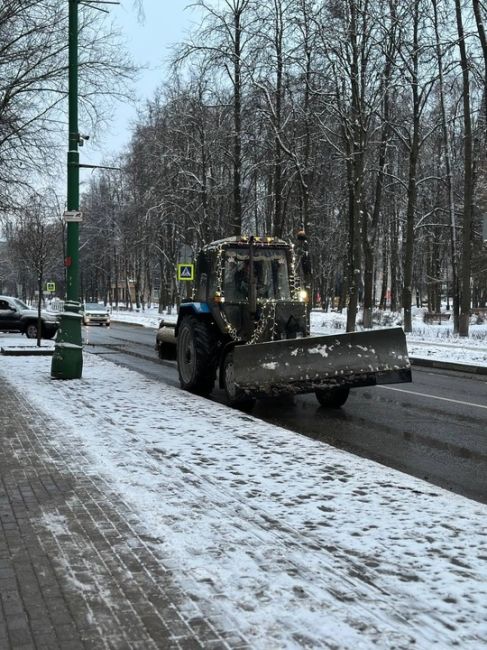
<svg viewBox="0 0 487 650"><path fill-rule="evenodd" d="M86 352L179 386L175 362L157 357L155 330L113 323L83 334ZM222 391L212 399L224 402ZM259 401L253 415L487 503L485 375L415 366L411 384L354 389L341 409L302 395Z"/></svg>

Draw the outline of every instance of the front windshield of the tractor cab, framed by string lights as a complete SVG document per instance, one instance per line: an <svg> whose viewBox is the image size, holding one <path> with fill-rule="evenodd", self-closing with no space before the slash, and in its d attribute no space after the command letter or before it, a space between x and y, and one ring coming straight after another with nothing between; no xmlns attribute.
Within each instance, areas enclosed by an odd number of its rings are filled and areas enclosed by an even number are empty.
<svg viewBox="0 0 487 650"><path fill-rule="evenodd" d="M254 250L254 282L257 300L290 300L286 252ZM225 253L223 295L227 302L249 298L250 260L247 249L228 249Z"/></svg>

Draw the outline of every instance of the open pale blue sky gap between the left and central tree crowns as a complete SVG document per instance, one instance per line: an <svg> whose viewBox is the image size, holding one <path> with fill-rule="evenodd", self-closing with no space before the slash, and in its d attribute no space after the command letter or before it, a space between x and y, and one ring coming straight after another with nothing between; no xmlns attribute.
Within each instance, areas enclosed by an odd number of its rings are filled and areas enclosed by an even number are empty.
<svg viewBox="0 0 487 650"><path fill-rule="evenodd" d="M138 101L153 95L165 78L165 62L171 46L180 42L196 20L189 0L142 0L145 18L137 20L133 0L121 0L120 6L110 8L114 21L127 38L129 51L142 70L136 84ZM137 116L135 106L116 104L111 132L98 134L81 150L82 162L97 164L102 158L118 153L130 139L130 126Z"/></svg>

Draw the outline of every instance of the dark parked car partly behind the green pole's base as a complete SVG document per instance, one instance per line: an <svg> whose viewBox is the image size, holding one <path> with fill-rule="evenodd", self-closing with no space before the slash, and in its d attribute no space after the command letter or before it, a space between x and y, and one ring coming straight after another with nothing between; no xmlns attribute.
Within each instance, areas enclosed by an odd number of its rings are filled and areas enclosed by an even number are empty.
<svg viewBox="0 0 487 650"><path fill-rule="evenodd" d="M28 339L37 338L37 309L12 296L0 296L0 332L22 332ZM41 337L52 339L59 327L59 314L41 310Z"/></svg>

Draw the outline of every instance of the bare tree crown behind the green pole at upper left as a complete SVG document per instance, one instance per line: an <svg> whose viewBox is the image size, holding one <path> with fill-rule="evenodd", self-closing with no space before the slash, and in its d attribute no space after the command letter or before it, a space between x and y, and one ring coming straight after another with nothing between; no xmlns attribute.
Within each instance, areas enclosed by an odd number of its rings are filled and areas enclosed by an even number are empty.
<svg viewBox="0 0 487 650"><path fill-rule="evenodd" d="M128 96L135 68L105 14L79 12L80 118L90 130L107 119L106 100ZM0 210L64 162L67 21L67 2L0 4Z"/></svg>

